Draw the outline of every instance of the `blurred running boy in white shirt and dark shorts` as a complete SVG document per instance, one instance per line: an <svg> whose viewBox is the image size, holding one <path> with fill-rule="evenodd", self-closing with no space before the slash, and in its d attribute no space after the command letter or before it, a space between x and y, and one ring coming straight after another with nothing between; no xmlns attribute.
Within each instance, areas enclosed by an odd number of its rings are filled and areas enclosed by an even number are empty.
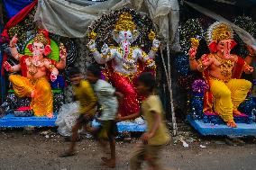
<svg viewBox="0 0 256 170"><path fill-rule="evenodd" d="M115 166L115 140L114 137L117 134L117 127L115 123L115 117L118 110L118 102L116 96L122 97L122 94L115 92L112 85L105 80L100 79L101 69L96 65L87 67L87 80L94 85L94 90L98 99L98 103L101 106L102 112L97 119L100 121L101 126L95 131L96 138L105 146L105 141L109 142L111 157L102 157L105 166Z"/></svg>

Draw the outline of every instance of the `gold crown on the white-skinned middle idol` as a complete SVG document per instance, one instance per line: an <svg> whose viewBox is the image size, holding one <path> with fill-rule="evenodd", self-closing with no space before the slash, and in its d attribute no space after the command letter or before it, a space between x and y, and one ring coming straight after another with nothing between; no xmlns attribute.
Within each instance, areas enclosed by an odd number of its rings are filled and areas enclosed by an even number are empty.
<svg viewBox="0 0 256 170"><path fill-rule="evenodd" d="M116 31L133 31L136 30L136 24L133 22L133 16L130 13L121 13L114 25Z"/></svg>

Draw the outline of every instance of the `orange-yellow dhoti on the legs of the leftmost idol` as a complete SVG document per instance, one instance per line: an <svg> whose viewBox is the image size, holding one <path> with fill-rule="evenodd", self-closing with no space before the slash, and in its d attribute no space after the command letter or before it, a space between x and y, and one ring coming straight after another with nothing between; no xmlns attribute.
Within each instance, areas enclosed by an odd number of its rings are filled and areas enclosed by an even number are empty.
<svg viewBox="0 0 256 170"><path fill-rule="evenodd" d="M30 97L34 91L31 107L35 116L52 113L53 100L47 77L29 79L24 76L11 75L9 80L13 84L15 94L19 97Z"/></svg>

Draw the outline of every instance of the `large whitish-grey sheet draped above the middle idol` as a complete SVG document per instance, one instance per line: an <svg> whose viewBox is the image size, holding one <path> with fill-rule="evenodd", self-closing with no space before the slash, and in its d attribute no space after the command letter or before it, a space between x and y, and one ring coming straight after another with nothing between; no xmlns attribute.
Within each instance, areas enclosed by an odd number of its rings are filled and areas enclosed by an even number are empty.
<svg viewBox="0 0 256 170"><path fill-rule="evenodd" d="M179 50L178 0L108 0L92 5L83 4L81 0L39 0L34 21L60 36L83 38L88 26L99 15L123 6L149 13L158 34L169 40L171 49Z"/></svg>

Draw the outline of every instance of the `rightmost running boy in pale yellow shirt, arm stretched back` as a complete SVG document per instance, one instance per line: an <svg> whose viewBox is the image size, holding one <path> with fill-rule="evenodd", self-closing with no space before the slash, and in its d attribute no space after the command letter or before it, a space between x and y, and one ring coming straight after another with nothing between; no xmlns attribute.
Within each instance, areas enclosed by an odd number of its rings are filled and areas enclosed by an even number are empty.
<svg viewBox="0 0 256 170"><path fill-rule="evenodd" d="M142 169L142 161L146 160L154 170L160 170L157 163L160 150L169 142L170 136L163 120L163 108L160 97L154 94L156 81L151 73L142 73L138 78L137 90L139 94L145 95L146 99L142 102L141 112L117 121L133 120L141 114L147 121L147 131L142 135L142 144L135 148L130 159L131 170Z"/></svg>

